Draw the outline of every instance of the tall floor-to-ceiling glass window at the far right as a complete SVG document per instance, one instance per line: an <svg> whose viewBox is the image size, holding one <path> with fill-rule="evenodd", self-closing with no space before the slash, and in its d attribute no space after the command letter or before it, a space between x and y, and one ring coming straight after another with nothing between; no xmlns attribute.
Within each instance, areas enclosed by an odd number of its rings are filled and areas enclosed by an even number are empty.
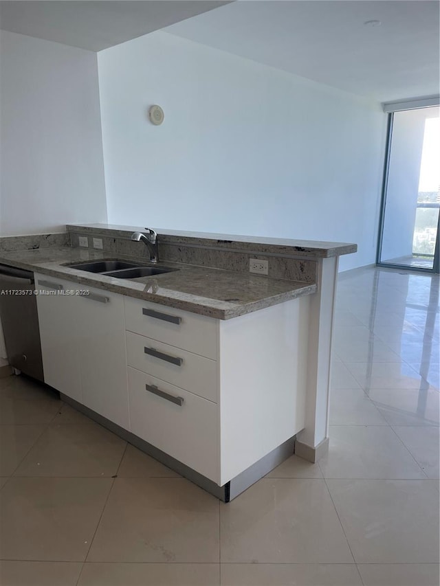
<svg viewBox="0 0 440 586"><path fill-rule="evenodd" d="M440 107L390 113L378 264L439 272Z"/></svg>

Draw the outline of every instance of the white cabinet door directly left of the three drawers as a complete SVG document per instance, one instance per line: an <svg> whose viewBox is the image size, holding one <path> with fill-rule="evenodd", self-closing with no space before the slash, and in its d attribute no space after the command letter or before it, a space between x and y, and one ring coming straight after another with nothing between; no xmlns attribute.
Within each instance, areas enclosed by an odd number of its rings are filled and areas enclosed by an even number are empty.
<svg viewBox="0 0 440 586"><path fill-rule="evenodd" d="M129 429L123 297L85 289L76 298L83 404Z"/></svg>

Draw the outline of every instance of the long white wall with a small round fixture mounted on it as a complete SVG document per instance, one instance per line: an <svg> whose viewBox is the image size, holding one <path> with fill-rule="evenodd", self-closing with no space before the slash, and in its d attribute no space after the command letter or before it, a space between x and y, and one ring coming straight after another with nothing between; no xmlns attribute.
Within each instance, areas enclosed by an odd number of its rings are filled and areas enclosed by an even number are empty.
<svg viewBox="0 0 440 586"><path fill-rule="evenodd" d="M164 32L98 71L109 222L355 242L341 268L375 262L379 104Z"/></svg>

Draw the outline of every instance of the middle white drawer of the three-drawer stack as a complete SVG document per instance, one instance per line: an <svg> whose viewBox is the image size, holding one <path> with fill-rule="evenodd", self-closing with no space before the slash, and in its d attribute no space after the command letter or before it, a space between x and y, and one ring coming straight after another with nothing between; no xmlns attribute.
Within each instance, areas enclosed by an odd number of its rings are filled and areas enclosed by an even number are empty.
<svg viewBox="0 0 440 586"><path fill-rule="evenodd" d="M126 332L129 366L217 403L217 362Z"/></svg>

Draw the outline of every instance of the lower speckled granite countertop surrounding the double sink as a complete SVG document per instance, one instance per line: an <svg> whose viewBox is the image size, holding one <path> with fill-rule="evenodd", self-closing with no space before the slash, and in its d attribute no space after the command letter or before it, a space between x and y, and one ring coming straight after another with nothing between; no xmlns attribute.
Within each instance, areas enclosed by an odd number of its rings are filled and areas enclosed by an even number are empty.
<svg viewBox="0 0 440 586"><path fill-rule="evenodd" d="M239 315L296 297L309 295L315 293L317 287L316 284L175 262L164 262L164 264L168 267L179 268L179 271L130 280L87 273L64 266L69 263L103 258L114 259L115 256L105 251L71 247L0 252L2 264L218 319L239 317ZM118 254L118 258L148 264L145 258L134 259L122 254ZM157 266L161 265L162 263L159 263Z"/></svg>

